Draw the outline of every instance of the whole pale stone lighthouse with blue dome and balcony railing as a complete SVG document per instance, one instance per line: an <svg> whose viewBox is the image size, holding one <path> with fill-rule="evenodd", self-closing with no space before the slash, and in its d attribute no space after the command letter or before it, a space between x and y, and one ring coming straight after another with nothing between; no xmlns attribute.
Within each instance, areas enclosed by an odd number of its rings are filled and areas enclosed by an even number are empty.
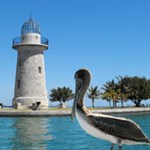
<svg viewBox="0 0 150 150"><path fill-rule="evenodd" d="M21 37L13 39L17 50L17 70L13 106L15 108L48 107L44 50L48 39L40 35L39 25L30 18L21 28Z"/></svg>

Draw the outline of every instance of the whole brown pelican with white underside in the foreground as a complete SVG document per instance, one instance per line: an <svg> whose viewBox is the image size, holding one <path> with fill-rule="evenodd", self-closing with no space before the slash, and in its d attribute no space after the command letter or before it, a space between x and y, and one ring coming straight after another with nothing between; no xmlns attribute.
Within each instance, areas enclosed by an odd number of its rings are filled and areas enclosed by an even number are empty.
<svg viewBox="0 0 150 150"><path fill-rule="evenodd" d="M133 121L104 114L93 114L84 105L83 98L89 87L91 74L87 69L75 73L76 91L72 108L72 118L76 116L80 126L90 135L118 144L150 144L150 140Z"/></svg>

